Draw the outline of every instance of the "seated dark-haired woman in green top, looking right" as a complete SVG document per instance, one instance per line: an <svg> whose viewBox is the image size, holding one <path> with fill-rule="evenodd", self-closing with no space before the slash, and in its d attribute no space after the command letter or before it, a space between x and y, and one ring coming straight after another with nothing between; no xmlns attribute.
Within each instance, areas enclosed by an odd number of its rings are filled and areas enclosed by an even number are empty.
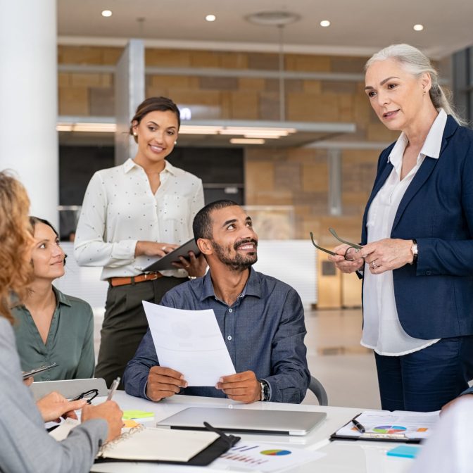
<svg viewBox="0 0 473 473"><path fill-rule="evenodd" d="M53 286L64 275L65 254L59 237L46 220L30 217L34 247L34 279L24 305L13 308L16 344L24 371L50 365L35 381L92 378L94 376L94 315L90 305L66 296Z"/></svg>

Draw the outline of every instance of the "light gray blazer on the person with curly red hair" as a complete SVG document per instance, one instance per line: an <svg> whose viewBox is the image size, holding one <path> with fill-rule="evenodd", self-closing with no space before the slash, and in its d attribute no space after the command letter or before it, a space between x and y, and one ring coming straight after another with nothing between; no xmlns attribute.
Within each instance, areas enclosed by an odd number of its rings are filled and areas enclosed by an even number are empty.
<svg viewBox="0 0 473 473"><path fill-rule="evenodd" d="M0 471L24 473L89 472L99 444L105 441L105 420L89 420L62 442L44 429L30 389L21 379L13 329L0 317Z"/></svg>

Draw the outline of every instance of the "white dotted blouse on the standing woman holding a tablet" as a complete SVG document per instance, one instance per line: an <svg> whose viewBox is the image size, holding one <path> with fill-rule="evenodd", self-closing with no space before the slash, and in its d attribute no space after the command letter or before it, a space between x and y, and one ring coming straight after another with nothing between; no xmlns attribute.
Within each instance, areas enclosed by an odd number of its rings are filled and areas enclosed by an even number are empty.
<svg viewBox="0 0 473 473"><path fill-rule="evenodd" d="M103 266L101 279L136 276L156 259L134 257L137 241L183 244L204 205L201 179L165 161L153 195L146 172L134 160L97 171L82 204L74 255L81 266ZM186 277L184 270L163 271Z"/></svg>

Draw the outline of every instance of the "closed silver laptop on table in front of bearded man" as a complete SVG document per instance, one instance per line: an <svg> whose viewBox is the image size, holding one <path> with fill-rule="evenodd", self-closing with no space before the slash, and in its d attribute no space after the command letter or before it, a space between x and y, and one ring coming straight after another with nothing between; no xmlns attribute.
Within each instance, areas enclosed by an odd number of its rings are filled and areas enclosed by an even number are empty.
<svg viewBox="0 0 473 473"><path fill-rule="evenodd" d="M298 410L187 408L160 420L156 427L204 430L203 422L208 422L228 432L305 435L325 417L325 412Z"/></svg>

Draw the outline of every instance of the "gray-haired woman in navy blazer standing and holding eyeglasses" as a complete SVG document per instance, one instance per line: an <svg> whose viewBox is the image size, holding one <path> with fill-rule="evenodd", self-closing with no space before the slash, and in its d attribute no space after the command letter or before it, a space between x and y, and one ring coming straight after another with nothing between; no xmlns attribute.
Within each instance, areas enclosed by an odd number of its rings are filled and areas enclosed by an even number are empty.
<svg viewBox="0 0 473 473"><path fill-rule="evenodd" d="M401 136L379 156L361 250L330 259L362 274L382 408L438 410L473 377L473 132L413 46L382 49L365 71L374 112Z"/></svg>

